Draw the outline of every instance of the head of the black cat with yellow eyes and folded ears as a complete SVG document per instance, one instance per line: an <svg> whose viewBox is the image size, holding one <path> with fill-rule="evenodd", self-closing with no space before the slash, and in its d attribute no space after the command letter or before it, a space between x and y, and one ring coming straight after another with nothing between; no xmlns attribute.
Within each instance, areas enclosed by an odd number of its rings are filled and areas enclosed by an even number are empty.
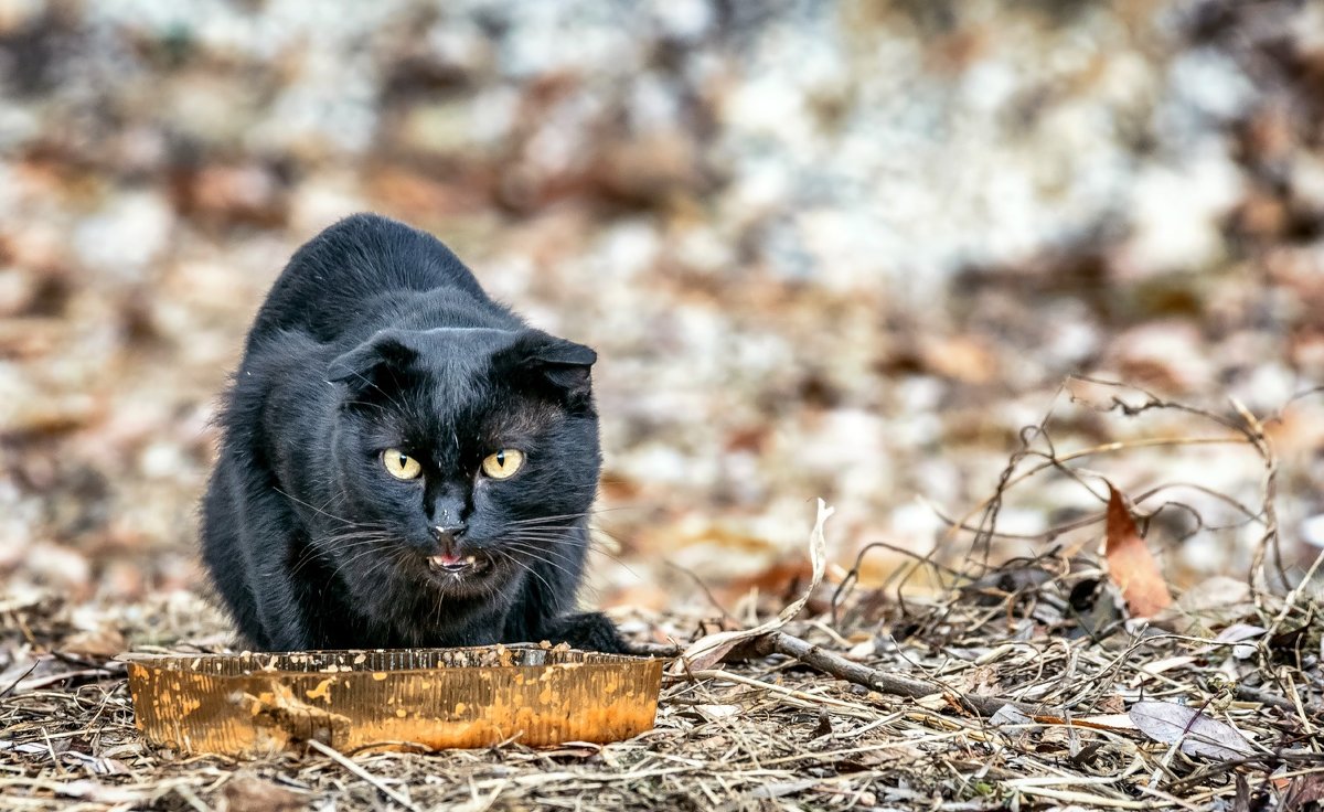
<svg viewBox="0 0 1324 812"><path fill-rule="evenodd" d="M328 552L347 580L479 597L536 578L539 559L577 580L600 470L594 360L531 329L383 330L335 359L330 473L360 527Z"/></svg>

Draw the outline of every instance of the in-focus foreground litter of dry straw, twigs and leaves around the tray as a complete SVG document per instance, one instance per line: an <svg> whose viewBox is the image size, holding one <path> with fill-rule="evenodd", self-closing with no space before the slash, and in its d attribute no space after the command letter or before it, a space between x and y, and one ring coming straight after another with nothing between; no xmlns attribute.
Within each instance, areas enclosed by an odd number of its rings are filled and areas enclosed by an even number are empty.
<svg viewBox="0 0 1324 812"><path fill-rule="evenodd" d="M134 729L114 654L225 650L224 620L179 595L119 607L9 595L0 807L1319 808L1319 562L1292 578L1275 560L1272 419L1107 381L1066 389L1102 412L1177 412L1214 433L1190 427L1068 452L1054 448L1046 419L1022 433L996 493L949 519L944 550L961 552L952 560L914 556L892 579L862 585L867 548L851 568L824 566L831 526L821 507L810 583L730 609L710 600L617 612L641 646L686 652L665 680L657 727L628 742L344 754L310 743L250 762L154 751ZM1161 489L1124 499L1079 465L1211 441L1245 444L1263 462L1262 503L1237 502L1262 555L1246 579L1214 579L1165 605L1156 564L1136 544L1180 503L1148 507ZM1039 555L989 564L1012 535L998 530L1004 497L1043 472L1091 489L1100 510L1042 534ZM912 580L939 588L907 589ZM1132 616L1140 607L1152 616Z"/></svg>

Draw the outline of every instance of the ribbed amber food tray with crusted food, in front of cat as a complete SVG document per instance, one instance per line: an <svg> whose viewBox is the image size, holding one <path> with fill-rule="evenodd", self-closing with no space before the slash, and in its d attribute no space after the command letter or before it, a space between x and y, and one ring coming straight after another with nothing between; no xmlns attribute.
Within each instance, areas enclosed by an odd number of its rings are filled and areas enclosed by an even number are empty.
<svg viewBox="0 0 1324 812"><path fill-rule="evenodd" d="M180 752L616 742L653 727L662 661L564 648L123 657L138 730Z"/></svg>

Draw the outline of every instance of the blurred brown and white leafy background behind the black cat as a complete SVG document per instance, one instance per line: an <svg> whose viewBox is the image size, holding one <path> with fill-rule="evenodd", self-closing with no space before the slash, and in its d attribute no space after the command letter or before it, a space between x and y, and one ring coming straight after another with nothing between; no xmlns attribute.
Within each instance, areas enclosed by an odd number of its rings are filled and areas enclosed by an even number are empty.
<svg viewBox="0 0 1324 812"><path fill-rule="evenodd" d="M3 592L196 591L249 321L364 209L597 347L591 600L782 589L816 497L837 562L896 548L869 578L960 559L941 517L1050 409L1062 453L1227 436L1071 372L1262 417L1324 379L1321 113L1311 3L0 0ZM1295 567L1320 400L1268 425ZM1258 510L1246 446L1079 462L1200 510L1151 527L1176 584L1245 574L1263 527L1201 489ZM998 548L1100 507L1031 478Z"/></svg>

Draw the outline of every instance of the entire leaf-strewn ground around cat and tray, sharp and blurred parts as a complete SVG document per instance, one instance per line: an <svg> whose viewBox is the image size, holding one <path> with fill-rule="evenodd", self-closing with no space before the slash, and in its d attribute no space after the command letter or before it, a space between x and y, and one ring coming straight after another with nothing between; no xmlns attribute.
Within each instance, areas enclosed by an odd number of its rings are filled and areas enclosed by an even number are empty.
<svg viewBox="0 0 1324 812"><path fill-rule="evenodd" d="M1321 77L1280 0L0 0L0 805L1317 808ZM598 350L587 603L756 625L824 498L785 631L933 691L751 649L605 747L144 747L113 657L229 645L216 397L355 211Z"/></svg>

